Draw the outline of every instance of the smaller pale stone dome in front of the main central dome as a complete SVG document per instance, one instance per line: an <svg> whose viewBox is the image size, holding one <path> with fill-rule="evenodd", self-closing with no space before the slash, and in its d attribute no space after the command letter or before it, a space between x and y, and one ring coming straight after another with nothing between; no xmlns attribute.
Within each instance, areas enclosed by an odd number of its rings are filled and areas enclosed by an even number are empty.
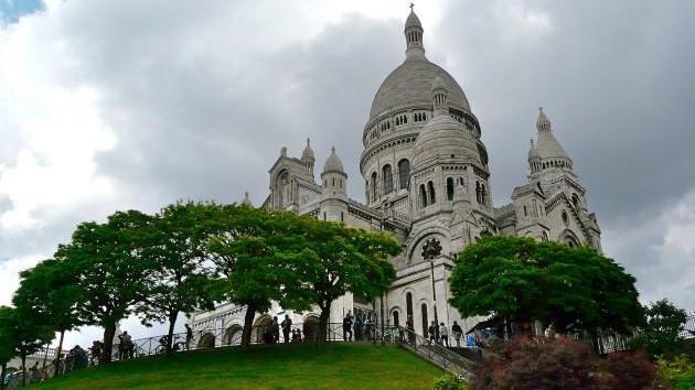
<svg viewBox="0 0 695 390"><path fill-rule="evenodd" d="M427 123L413 149L413 166L431 159L473 161L482 165L473 134L448 115L438 115ZM470 158L470 160L469 160Z"/></svg>

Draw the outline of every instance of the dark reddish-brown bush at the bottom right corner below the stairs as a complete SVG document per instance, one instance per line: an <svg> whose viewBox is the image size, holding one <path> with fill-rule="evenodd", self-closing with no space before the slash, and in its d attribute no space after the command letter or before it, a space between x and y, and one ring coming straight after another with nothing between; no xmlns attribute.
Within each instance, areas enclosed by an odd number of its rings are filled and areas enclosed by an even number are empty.
<svg viewBox="0 0 695 390"><path fill-rule="evenodd" d="M643 350L601 358L567 338L516 338L478 366L471 389L644 389L655 377Z"/></svg>

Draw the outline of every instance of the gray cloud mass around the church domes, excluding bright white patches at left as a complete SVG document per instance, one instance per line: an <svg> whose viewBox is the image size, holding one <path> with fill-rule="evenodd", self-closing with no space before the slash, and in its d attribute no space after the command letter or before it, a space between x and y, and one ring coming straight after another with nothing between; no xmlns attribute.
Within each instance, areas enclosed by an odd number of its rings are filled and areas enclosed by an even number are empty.
<svg viewBox="0 0 695 390"><path fill-rule="evenodd" d="M311 12L275 6L64 3L45 21L46 42L60 36L67 47L62 86L99 91L99 116L117 143L97 155L97 172L116 194L45 210L50 223L10 250L9 239L0 241L2 254L50 253L76 223L116 208L234 202L245 191L259 204L280 148L299 155L307 137L317 171L338 148L351 196L363 199L362 129L381 82L404 58L406 13L346 14L317 32L317 23L302 23ZM691 304L685 284L660 286L695 279L683 266L693 254L659 248L671 223L663 216L695 185L695 6L466 1L439 11L437 24L424 25L427 55L457 78L481 121L495 204L525 181L544 106L589 191L608 254L638 277L648 299L663 293ZM0 164L11 164L6 156L20 144L13 137L1 145ZM691 273L655 266L669 257Z"/></svg>

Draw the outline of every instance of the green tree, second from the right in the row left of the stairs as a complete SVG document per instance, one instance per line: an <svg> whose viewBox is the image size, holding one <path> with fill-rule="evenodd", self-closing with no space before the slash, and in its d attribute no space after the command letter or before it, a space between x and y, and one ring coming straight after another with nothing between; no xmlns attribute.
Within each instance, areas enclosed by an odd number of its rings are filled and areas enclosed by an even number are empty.
<svg viewBox="0 0 695 390"><path fill-rule="evenodd" d="M306 307L304 301L286 300L285 286L300 283L289 271L291 259L306 246L300 217L288 212L227 205L221 216L221 234L210 242L217 283L228 301L246 305L242 348L250 346L254 317L270 308L271 301L288 308Z"/></svg>

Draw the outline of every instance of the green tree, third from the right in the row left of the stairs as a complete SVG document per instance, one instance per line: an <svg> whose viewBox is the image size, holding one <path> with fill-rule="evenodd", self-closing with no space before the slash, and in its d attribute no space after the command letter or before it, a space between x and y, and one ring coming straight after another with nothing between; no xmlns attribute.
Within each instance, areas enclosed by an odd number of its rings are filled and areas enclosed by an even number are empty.
<svg viewBox="0 0 695 390"><path fill-rule="evenodd" d="M169 321L167 353L179 313L213 308L206 246L222 226L221 215L221 206L189 202L169 205L153 218L153 237L142 253L151 262L149 293L137 311L145 322Z"/></svg>

